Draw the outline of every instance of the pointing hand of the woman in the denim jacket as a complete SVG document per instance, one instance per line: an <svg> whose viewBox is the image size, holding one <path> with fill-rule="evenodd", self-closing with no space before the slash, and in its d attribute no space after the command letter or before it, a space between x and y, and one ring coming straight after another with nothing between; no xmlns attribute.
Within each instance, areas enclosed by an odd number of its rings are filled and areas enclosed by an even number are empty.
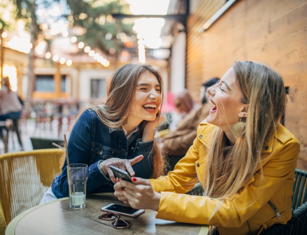
<svg viewBox="0 0 307 235"><path fill-rule="evenodd" d="M134 176L135 172L131 166L141 161L143 158L144 158L143 155L139 155L133 159L121 159L121 158L113 157L113 158L109 158L107 160L100 162L99 167L104 175L108 174L112 182L116 183L115 176L113 174L113 171L110 168L111 165L123 171L127 170L131 176Z"/></svg>

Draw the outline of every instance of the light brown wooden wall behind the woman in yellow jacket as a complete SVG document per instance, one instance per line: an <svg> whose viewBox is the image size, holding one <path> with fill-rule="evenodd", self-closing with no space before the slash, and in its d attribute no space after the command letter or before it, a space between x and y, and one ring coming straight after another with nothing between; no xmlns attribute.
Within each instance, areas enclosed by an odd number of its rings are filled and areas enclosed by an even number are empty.
<svg viewBox="0 0 307 235"><path fill-rule="evenodd" d="M221 3L202 1L189 17L187 89L198 98L200 85L221 77L235 60L268 64L290 87L285 125L307 160L307 0L239 0L200 33L213 14L208 9L216 11Z"/></svg>

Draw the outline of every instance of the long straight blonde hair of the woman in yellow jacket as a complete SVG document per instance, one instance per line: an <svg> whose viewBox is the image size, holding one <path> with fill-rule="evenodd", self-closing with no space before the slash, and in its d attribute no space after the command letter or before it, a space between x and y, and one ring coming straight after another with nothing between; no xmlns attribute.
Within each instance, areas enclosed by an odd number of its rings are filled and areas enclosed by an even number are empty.
<svg viewBox="0 0 307 235"><path fill-rule="evenodd" d="M237 193L251 180L261 163L261 150L276 132L287 102L282 78L268 66L237 61L233 69L243 94L241 102L249 104L249 109L244 120L246 128L233 146L220 128L216 127L213 133L204 195L221 200Z"/></svg>

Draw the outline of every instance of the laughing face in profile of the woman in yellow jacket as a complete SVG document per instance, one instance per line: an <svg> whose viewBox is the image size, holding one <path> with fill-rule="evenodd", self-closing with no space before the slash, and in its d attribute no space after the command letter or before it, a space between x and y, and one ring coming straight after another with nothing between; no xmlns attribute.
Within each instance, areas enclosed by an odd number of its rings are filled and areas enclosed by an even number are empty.
<svg viewBox="0 0 307 235"><path fill-rule="evenodd" d="M228 137L231 128L240 121L240 117L247 116L248 104L240 100L243 95L237 84L233 68L229 68L221 81L207 89L209 101L214 107L210 110L207 122L220 127Z"/></svg>

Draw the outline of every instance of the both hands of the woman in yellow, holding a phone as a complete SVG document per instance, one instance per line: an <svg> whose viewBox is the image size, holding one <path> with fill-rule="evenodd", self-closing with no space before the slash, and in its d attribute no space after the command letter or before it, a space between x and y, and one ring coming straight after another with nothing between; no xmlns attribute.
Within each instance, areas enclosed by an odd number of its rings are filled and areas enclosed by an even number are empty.
<svg viewBox="0 0 307 235"><path fill-rule="evenodd" d="M132 177L132 181L119 180L114 185L114 195L136 209L159 209L161 194L154 191L148 179Z"/></svg>

